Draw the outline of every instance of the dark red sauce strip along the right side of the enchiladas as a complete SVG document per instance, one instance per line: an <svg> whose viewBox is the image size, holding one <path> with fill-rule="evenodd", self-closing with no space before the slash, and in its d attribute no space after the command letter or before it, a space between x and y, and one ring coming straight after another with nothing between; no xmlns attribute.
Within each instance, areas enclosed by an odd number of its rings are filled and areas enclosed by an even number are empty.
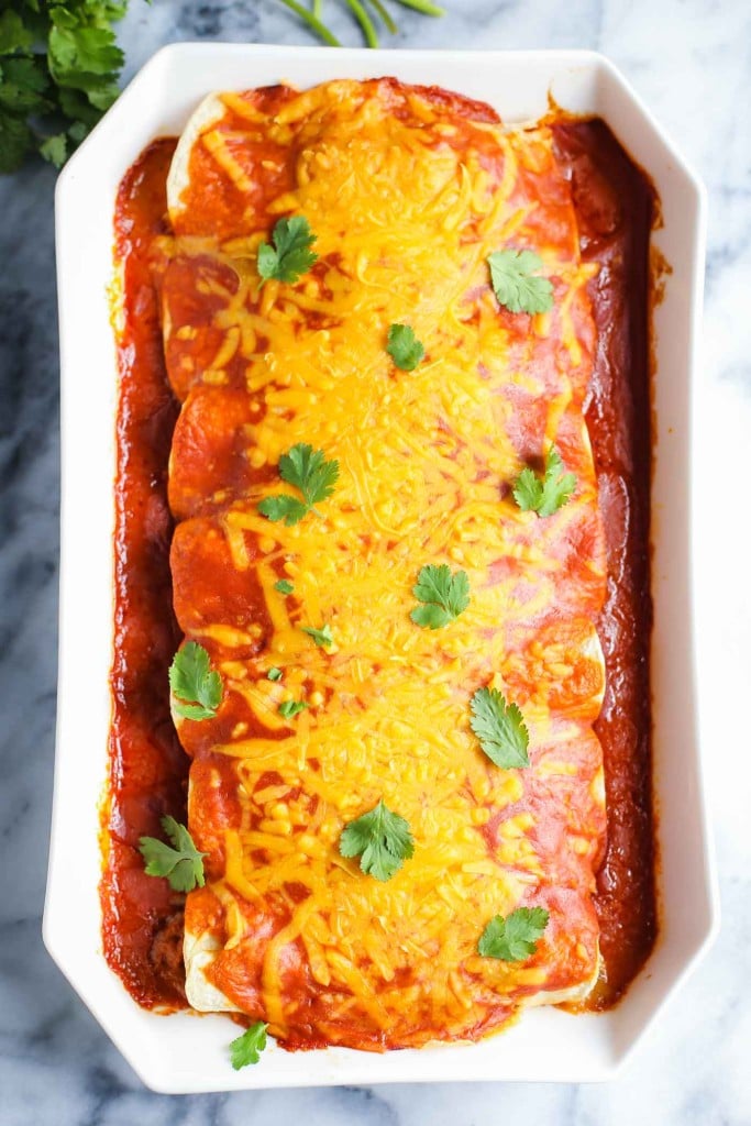
<svg viewBox="0 0 751 1126"><path fill-rule="evenodd" d="M598 623L606 691L594 731L605 758L608 842L597 877L604 968L587 1007L607 1008L656 937L650 700L650 231L654 190L601 120L554 128L571 179L597 351L585 411L608 554Z"/></svg>

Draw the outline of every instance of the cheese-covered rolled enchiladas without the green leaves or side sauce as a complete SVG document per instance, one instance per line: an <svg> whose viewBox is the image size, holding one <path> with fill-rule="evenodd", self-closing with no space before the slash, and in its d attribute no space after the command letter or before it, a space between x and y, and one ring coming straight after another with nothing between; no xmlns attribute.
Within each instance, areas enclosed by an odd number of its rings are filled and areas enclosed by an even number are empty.
<svg viewBox="0 0 751 1126"><path fill-rule="evenodd" d="M584 995L598 966L606 578L582 415L592 267L570 185L545 126L510 132L393 80L224 95L188 132L161 248L182 404L171 563L180 626L224 681L215 720L178 720L208 854L187 901L189 998L289 1046L476 1038ZM290 214L319 261L261 286L259 243ZM508 247L543 259L549 313L499 306L486 258ZM393 323L424 346L413 372L386 352ZM295 492L277 466L296 443L340 477L287 527L258 504ZM551 443L578 484L542 519L511 484ZM437 631L410 619L429 563L471 588ZM324 624L330 647L302 628ZM520 707L528 768L482 752L483 686ZM285 700L309 708L285 720ZM386 883L338 849L381 797L415 841ZM536 953L481 957L485 924L520 905L549 912Z"/></svg>

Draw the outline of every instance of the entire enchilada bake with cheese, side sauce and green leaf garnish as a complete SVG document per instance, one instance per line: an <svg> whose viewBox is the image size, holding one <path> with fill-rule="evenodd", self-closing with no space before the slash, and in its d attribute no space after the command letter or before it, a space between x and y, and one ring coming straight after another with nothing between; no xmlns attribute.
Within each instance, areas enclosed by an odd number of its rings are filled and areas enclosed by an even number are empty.
<svg viewBox="0 0 751 1126"><path fill-rule="evenodd" d="M142 1003L384 1049L646 956L649 456L585 412L608 318L645 378L650 204L598 123L386 79L212 97L124 180L102 900Z"/></svg>

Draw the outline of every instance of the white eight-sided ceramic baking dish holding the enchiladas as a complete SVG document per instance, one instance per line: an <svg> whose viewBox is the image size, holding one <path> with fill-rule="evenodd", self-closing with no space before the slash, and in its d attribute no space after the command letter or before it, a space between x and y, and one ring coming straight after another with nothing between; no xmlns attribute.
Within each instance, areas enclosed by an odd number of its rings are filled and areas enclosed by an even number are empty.
<svg viewBox="0 0 751 1126"><path fill-rule="evenodd" d="M542 116L548 95L599 114L653 178L672 267L655 310L653 482L654 788L661 933L626 998L608 1013L533 1010L474 1045L385 1055L286 1053L233 1072L222 1017L140 1009L101 951L99 803L107 769L113 650L117 373L108 286L120 178L152 138L180 132L203 96L279 80L393 74L489 101L508 122ZM331 51L179 44L160 51L60 177L56 196L62 366L62 565L55 798L44 940L143 1081L169 1092L440 1080L602 1080L614 1075L708 947L717 896L697 742L691 601L691 415L705 239L704 189L624 79L589 52Z"/></svg>

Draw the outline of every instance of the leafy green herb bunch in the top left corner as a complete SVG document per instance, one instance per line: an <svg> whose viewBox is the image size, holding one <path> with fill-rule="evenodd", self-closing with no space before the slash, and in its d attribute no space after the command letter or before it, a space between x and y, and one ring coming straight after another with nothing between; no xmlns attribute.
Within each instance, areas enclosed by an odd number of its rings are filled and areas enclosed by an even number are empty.
<svg viewBox="0 0 751 1126"><path fill-rule="evenodd" d="M0 172L33 151L64 164L118 95L113 24L127 0L2 0Z"/></svg>

